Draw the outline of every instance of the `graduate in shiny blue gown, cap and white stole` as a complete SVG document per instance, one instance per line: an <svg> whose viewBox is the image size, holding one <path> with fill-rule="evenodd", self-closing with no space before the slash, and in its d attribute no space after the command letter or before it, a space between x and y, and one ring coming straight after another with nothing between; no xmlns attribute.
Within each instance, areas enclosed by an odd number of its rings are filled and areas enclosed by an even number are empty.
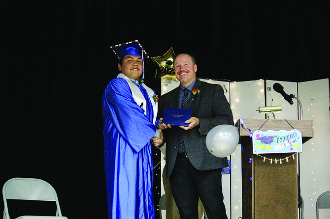
<svg viewBox="0 0 330 219"><path fill-rule="evenodd" d="M157 96L140 79L140 44L111 48L120 57L121 73L109 82L102 98L108 219L154 219L150 140L159 137Z"/></svg>

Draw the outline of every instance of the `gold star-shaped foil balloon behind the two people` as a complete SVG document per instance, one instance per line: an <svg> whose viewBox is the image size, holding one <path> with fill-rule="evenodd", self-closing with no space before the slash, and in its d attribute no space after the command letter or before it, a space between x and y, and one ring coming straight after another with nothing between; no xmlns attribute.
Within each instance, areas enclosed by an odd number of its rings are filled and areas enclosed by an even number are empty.
<svg viewBox="0 0 330 219"><path fill-rule="evenodd" d="M176 82L178 81L174 73L174 58L175 54L172 47L163 56L151 57L157 68L155 79L170 78Z"/></svg>

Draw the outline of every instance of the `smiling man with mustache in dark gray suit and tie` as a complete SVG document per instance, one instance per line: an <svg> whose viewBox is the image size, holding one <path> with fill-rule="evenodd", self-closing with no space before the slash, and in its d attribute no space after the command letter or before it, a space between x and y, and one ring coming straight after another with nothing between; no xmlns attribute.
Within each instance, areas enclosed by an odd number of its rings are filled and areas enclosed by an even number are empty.
<svg viewBox="0 0 330 219"><path fill-rule="evenodd" d="M197 64L192 55L176 56L173 65L180 86L161 97L158 109L159 117L165 108L192 109L188 127L160 124L166 142L166 177L180 218L198 219L199 197L208 219L227 219L221 172L228 161L212 155L205 141L213 127L233 125L230 105L221 85L196 79ZM162 143L154 140L155 146Z"/></svg>

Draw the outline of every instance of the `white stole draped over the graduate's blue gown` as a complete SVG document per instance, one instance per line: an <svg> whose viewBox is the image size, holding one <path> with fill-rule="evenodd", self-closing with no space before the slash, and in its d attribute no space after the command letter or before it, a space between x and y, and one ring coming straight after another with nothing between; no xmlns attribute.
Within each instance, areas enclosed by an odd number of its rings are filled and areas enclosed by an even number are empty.
<svg viewBox="0 0 330 219"><path fill-rule="evenodd" d="M122 78L125 79L127 81L127 83L129 84L131 91L132 91L132 96L134 101L136 102L136 104L138 106L143 106L143 110L144 110L144 115L147 115L147 101L145 100L141 90L137 87L137 85L132 82L126 75L124 75L123 73L120 73L117 78ZM142 83L142 85L146 91L148 92L148 96L150 98L150 101L152 103L153 106L153 110L154 110L154 118L153 118L153 123L155 124L156 122L156 117L157 117L157 111L158 111L158 102L155 103L154 99L152 98L152 96L155 94L154 91L152 89L150 89L147 85L145 85L144 83Z"/></svg>

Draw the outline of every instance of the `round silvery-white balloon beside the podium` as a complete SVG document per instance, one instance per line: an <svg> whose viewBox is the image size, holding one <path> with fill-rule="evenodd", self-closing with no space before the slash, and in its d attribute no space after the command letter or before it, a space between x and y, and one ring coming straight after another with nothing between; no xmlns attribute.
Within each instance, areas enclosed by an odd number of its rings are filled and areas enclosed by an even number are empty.
<svg viewBox="0 0 330 219"><path fill-rule="evenodd" d="M206 136L206 147L216 157L224 158L231 155L239 141L238 129L232 125L218 125Z"/></svg>

